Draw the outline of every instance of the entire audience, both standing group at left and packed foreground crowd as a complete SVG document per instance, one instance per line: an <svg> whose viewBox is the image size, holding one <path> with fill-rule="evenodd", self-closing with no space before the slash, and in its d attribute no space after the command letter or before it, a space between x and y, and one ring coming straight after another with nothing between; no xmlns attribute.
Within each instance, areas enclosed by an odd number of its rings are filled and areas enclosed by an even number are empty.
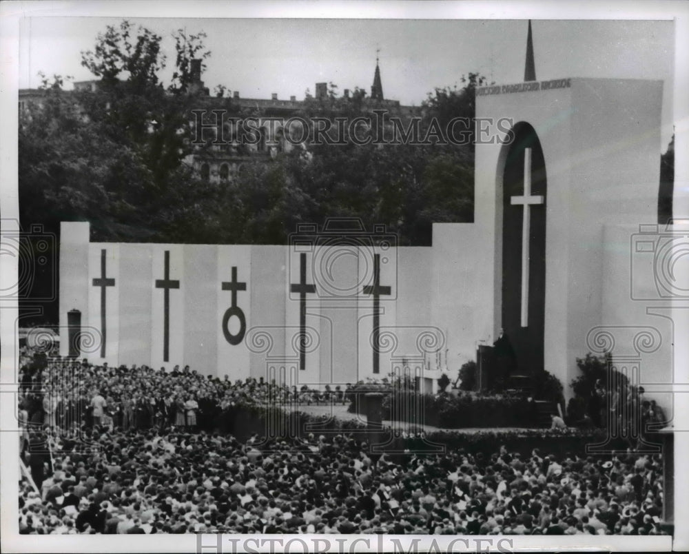
<svg viewBox="0 0 689 554"><path fill-rule="evenodd" d="M347 402L346 389L327 392L317 401ZM20 532L666 533L661 455L500 447L401 459L347 433L260 442L212 429L233 402L295 396L314 400L189 368L28 366Z"/></svg>

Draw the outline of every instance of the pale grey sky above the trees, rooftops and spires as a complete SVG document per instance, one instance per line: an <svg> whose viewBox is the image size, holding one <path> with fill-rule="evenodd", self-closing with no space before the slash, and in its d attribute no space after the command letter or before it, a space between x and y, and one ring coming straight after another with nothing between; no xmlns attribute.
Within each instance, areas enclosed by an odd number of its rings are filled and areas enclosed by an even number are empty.
<svg viewBox="0 0 689 554"><path fill-rule="evenodd" d="M35 88L45 74L92 79L81 51L119 18L27 17L20 26L19 87ZM204 31L212 56L203 74L212 91L223 84L245 98L303 99L316 82L370 92L376 55L384 95L419 105L436 87L462 86L481 72L496 83L523 80L526 20L409 19L167 19L129 18L163 37L169 79L172 32ZM672 135L674 25L672 21L534 20L538 80L610 77L664 81L663 141ZM380 52L377 53L377 50Z"/></svg>

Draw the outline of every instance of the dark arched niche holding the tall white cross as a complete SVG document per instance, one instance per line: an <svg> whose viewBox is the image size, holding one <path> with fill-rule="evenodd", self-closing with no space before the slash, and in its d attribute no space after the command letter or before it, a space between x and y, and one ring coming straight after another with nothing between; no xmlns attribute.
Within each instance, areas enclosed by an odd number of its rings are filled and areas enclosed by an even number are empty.
<svg viewBox="0 0 689 554"><path fill-rule="evenodd" d="M544 369L546 167L534 128L518 123L502 157L501 323L514 351L507 373Z"/></svg>

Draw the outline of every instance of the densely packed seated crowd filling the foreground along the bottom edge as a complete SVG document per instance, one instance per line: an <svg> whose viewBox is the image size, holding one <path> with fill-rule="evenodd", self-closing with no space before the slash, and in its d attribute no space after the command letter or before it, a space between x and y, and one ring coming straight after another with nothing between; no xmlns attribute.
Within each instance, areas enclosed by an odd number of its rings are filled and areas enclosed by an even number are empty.
<svg viewBox="0 0 689 554"><path fill-rule="evenodd" d="M350 435L260 444L232 435L94 427L35 433L20 483L29 534L658 535L662 462L458 450L368 453ZM42 447L42 448L41 448ZM36 467L42 465L42 469Z"/></svg>

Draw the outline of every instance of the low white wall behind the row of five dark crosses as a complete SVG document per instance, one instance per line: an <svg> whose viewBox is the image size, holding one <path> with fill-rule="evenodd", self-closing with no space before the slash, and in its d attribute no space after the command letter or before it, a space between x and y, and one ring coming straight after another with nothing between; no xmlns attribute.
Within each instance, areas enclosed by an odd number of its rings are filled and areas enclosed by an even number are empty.
<svg viewBox="0 0 689 554"><path fill-rule="evenodd" d="M307 253L306 281L316 284L317 294L307 295L307 331L316 346L307 352L305 371L298 367L298 294L290 285L300 280L300 252L288 246L261 245L166 245L90 243L88 223L64 223L60 260L61 344L68 353L67 311L82 312L82 325L101 332L100 289L92 279L101 274L101 249L107 256L107 277L115 286L107 288L107 351L101 358L99 342L83 356L94 363L110 365L189 365L200 373L232 379L272 378L294 384L356 382L367 377L382 378L395 360L420 357L419 338L429 332L433 295L431 248L353 247L337 256L338 247L316 247ZM164 292L155 281L164 276L165 252L169 252L169 278L179 287L169 291L169 358L163 360ZM380 297L381 333L395 336L397 348L382 348L380 373L372 372L373 298L362 289L373 279L372 254L380 254L380 285L391 294ZM238 291L237 305L243 309L246 334L238 345L230 345L223 334L223 316L232 294L222 283L246 283ZM349 290L349 298L329 295L330 282ZM345 295L346 296L346 295ZM230 320L232 333L238 319ZM263 337L263 338L262 338ZM267 342L263 342L265 339ZM263 348L269 345L269 348ZM429 343L431 347L434 341ZM272 369L282 376L271 374ZM287 370L287 376L284 372Z"/></svg>

